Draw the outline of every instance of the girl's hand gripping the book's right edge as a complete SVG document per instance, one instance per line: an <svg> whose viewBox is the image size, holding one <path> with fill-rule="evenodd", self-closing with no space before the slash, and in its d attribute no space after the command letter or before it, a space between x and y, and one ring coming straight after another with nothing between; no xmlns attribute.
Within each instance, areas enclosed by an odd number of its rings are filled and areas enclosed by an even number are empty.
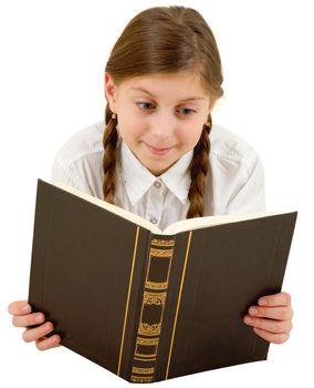
<svg viewBox="0 0 314 388"><path fill-rule="evenodd" d="M258 306L249 308L243 317L247 325L263 339L273 344L283 344L290 337L293 310L287 293L262 296Z"/></svg>

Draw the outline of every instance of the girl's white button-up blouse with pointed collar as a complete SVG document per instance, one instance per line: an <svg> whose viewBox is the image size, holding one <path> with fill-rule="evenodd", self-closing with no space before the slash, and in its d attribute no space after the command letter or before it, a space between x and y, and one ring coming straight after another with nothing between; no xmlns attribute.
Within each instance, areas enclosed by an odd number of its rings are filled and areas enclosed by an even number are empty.
<svg viewBox="0 0 314 388"><path fill-rule="evenodd" d="M63 182L103 200L104 122L74 134L55 156L52 182ZM164 229L186 218L192 151L160 176L153 175L123 140L117 147L115 204ZM213 124L205 214L264 212L264 174L257 152L232 132Z"/></svg>

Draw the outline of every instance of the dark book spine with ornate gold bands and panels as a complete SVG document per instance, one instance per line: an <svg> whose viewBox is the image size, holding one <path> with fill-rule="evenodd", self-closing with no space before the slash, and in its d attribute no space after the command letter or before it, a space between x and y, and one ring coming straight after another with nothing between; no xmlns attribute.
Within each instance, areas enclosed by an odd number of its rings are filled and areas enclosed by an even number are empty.
<svg viewBox="0 0 314 388"><path fill-rule="evenodd" d="M156 376L158 344L163 326L175 237L151 234L142 298L132 382L153 382Z"/></svg>

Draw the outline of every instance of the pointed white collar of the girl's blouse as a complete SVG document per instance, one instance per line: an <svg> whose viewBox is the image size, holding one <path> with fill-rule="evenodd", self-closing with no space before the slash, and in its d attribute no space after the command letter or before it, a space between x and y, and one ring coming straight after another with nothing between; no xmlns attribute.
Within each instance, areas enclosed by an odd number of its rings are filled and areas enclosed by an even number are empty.
<svg viewBox="0 0 314 388"><path fill-rule="evenodd" d="M192 150L180 157L159 177L151 174L133 154L127 144L121 141L121 173L129 201L134 205L149 190L154 182L161 180L167 187L185 203L190 187L189 164Z"/></svg>

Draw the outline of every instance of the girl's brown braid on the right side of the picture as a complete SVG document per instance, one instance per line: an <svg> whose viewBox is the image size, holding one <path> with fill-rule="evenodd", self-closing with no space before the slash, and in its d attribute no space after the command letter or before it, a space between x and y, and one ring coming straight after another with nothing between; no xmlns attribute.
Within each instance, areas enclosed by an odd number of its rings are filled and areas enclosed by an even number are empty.
<svg viewBox="0 0 314 388"><path fill-rule="evenodd" d="M211 131L211 115L208 115L208 123L203 125L199 142L193 149L193 157L190 163L191 184L188 193L190 207L187 218L202 217L203 215L203 193L205 177L209 169L209 133Z"/></svg>

